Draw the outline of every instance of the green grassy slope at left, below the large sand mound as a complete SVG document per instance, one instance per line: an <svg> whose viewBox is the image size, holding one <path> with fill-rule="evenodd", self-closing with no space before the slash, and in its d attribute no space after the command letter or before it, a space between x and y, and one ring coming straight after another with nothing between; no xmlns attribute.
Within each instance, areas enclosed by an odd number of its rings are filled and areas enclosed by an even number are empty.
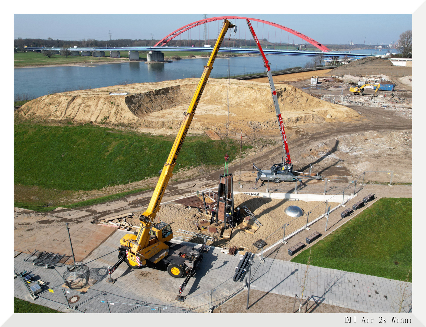
<svg viewBox="0 0 426 327"><path fill-rule="evenodd" d="M37 211L56 206L77 207L124 197L132 190L80 203L60 203L76 191L99 190L158 176L170 152L173 136L153 136L92 125L14 126L14 205ZM239 155L239 144L187 136L177 171L200 165L217 168ZM243 151L251 146L243 146ZM173 179L176 181L177 179ZM48 200L49 199L49 200Z"/></svg>

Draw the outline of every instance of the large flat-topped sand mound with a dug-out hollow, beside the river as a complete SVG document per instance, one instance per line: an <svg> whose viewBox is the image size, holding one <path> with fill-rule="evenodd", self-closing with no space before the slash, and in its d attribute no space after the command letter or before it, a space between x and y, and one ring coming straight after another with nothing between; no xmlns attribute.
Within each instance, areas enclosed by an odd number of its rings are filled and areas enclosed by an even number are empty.
<svg viewBox="0 0 426 327"><path fill-rule="evenodd" d="M160 83L140 83L92 90L44 95L17 110L17 115L44 122L74 121L147 128L177 128L187 110L198 79L187 78ZM229 87L229 97L228 97ZM110 92L128 93L109 95ZM358 116L342 105L312 97L296 87L277 87L285 125L324 122ZM276 116L269 85L252 81L210 79L204 90L191 128L204 130L241 125L246 129L276 128Z"/></svg>

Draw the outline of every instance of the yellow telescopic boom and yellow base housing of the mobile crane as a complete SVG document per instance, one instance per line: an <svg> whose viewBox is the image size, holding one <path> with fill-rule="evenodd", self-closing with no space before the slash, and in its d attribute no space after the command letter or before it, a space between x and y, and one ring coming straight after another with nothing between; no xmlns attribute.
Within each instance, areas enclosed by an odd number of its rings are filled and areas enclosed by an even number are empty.
<svg viewBox="0 0 426 327"><path fill-rule="evenodd" d="M188 133L188 129L195 114L195 110L197 108L197 105L199 104L201 95L210 76L210 72L213 69L213 62L216 59L216 55L219 52L219 48L222 44L223 39L225 38L227 30L233 27L235 27L235 25L231 24L229 20L224 19L222 30L219 33L219 37L213 47L210 58L207 61L207 65L204 66L204 71L198 82L191 103L188 107L188 110L184 113L184 119L179 128L179 132L176 135L173 147L170 150L167 162L164 163L164 167L161 170L160 178L158 179L157 185L155 186L155 190L153 196L151 197L150 204L148 205L147 210L141 215L141 217L139 217L142 226L138 232L138 235L134 237L134 235L127 234L121 240L121 245L127 246L127 248L129 248L128 260L129 263L131 263L132 265L134 264L136 266L136 263L138 263L139 265L141 261L143 261L144 259L151 258L153 255L158 253L159 250L164 249L164 247L166 249L168 248L167 245L165 245L163 242L158 242L161 244L151 245L150 230L153 226L155 215L158 210L160 210L161 199L163 198L169 179L173 176L173 168L176 165L176 160L178 159L178 155L182 148L185 136Z"/></svg>

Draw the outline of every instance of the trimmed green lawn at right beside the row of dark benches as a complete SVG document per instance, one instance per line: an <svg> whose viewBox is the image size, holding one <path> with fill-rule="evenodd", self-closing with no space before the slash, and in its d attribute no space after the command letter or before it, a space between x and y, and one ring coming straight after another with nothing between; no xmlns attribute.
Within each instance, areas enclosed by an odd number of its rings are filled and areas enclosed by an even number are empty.
<svg viewBox="0 0 426 327"><path fill-rule="evenodd" d="M291 261L306 264L308 256L303 251ZM378 200L311 246L311 264L404 280L412 267L412 199Z"/></svg>

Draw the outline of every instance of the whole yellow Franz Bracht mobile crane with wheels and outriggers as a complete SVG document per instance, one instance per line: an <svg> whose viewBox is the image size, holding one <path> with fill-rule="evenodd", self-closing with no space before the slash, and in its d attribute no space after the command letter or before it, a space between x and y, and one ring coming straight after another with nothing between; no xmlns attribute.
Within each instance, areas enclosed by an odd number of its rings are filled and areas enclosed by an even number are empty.
<svg viewBox="0 0 426 327"><path fill-rule="evenodd" d="M166 191L169 179L173 176L173 168L176 165L179 152L189 130L195 110L199 104L201 95L210 76L210 72L213 69L213 63L216 59L216 55L219 52L219 48L225 38L225 34L228 29L232 28L233 32L236 33L237 27L230 23L229 20L224 19L222 29L219 32L218 39L212 49L210 58L207 61L206 66L204 66L204 71L201 75L188 110L184 113L184 119L181 123L172 149L170 150L167 162L164 163L163 169L158 172L160 177L157 185L155 186L155 190L147 210L139 217L141 228L137 235L125 234L120 240L121 246L118 248L119 260L114 266L110 266L108 269L109 279L107 281L110 283L115 282L115 279L111 278L112 272L114 272L123 261L126 261L127 265L133 269L138 269L141 266L153 265L156 268L161 266L160 268L163 268L164 270L167 269L167 272L172 277L181 278L186 275L184 283L179 286L179 295L176 297L176 299L181 300L183 299L181 292L190 277L195 274L196 268L202 260L202 253L208 251L205 249L205 243L201 246L201 249L170 243L169 241L173 238L173 231L170 225L163 221L154 223L154 220L156 213L160 210L161 199Z"/></svg>

